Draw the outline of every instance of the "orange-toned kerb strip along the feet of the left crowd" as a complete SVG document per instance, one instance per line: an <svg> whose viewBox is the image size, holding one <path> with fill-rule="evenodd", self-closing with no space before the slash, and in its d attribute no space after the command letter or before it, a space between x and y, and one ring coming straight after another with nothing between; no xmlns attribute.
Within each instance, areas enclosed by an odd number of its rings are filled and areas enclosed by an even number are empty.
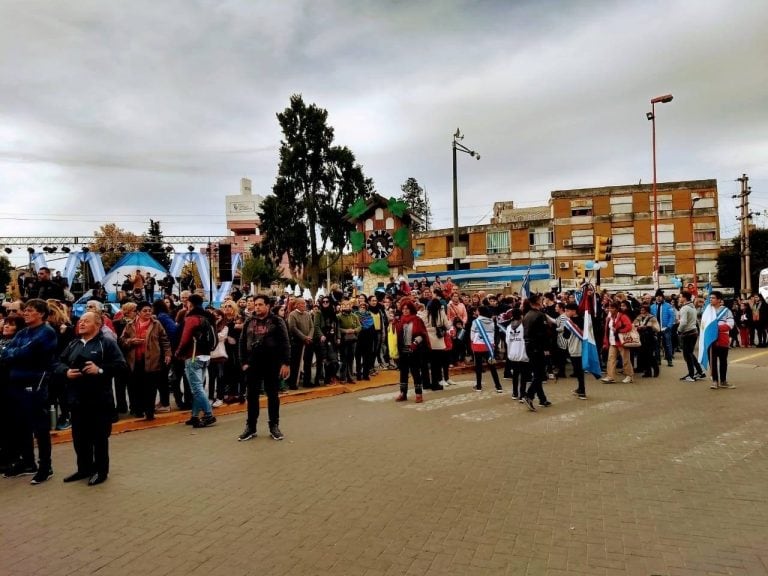
<svg viewBox="0 0 768 576"><path fill-rule="evenodd" d="M463 366L451 368L452 374L462 374L471 372L472 366ZM370 380L360 380L354 384L339 383L331 386L318 386L317 388L300 388L299 390L289 390L280 394L280 404L292 404L294 402L304 402L305 400L314 400L315 398L328 398L350 392L359 392L369 388L381 388L391 386L400 381L400 372L398 370L381 370ZM267 407L267 397L262 395L259 399L262 408ZM215 416L228 416L230 414L240 414L246 411L246 404L225 404L219 408L214 408ZM134 432L136 430L147 430L149 428L159 428L160 426L171 426L180 424L189 419L189 410L178 410L173 408L171 412L156 413L154 420L145 420L144 418L133 418L132 416L122 416L118 422L112 425L112 434L123 434L124 432ZM72 441L72 430L51 430L51 442L61 444Z"/></svg>

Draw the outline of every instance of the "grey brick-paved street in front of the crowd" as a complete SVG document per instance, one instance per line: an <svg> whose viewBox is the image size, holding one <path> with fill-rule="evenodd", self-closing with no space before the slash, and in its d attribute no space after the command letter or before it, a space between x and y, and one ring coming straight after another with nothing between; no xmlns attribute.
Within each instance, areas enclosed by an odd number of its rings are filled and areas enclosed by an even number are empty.
<svg viewBox="0 0 768 576"><path fill-rule="evenodd" d="M679 355L678 355L679 356ZM732 350L735 390L550 382L554 405L459 386L284 406L114 436L112 474L0 480L0 574L768 574L768 352ZM507 383L505 383L507 384Z"/></svg>

